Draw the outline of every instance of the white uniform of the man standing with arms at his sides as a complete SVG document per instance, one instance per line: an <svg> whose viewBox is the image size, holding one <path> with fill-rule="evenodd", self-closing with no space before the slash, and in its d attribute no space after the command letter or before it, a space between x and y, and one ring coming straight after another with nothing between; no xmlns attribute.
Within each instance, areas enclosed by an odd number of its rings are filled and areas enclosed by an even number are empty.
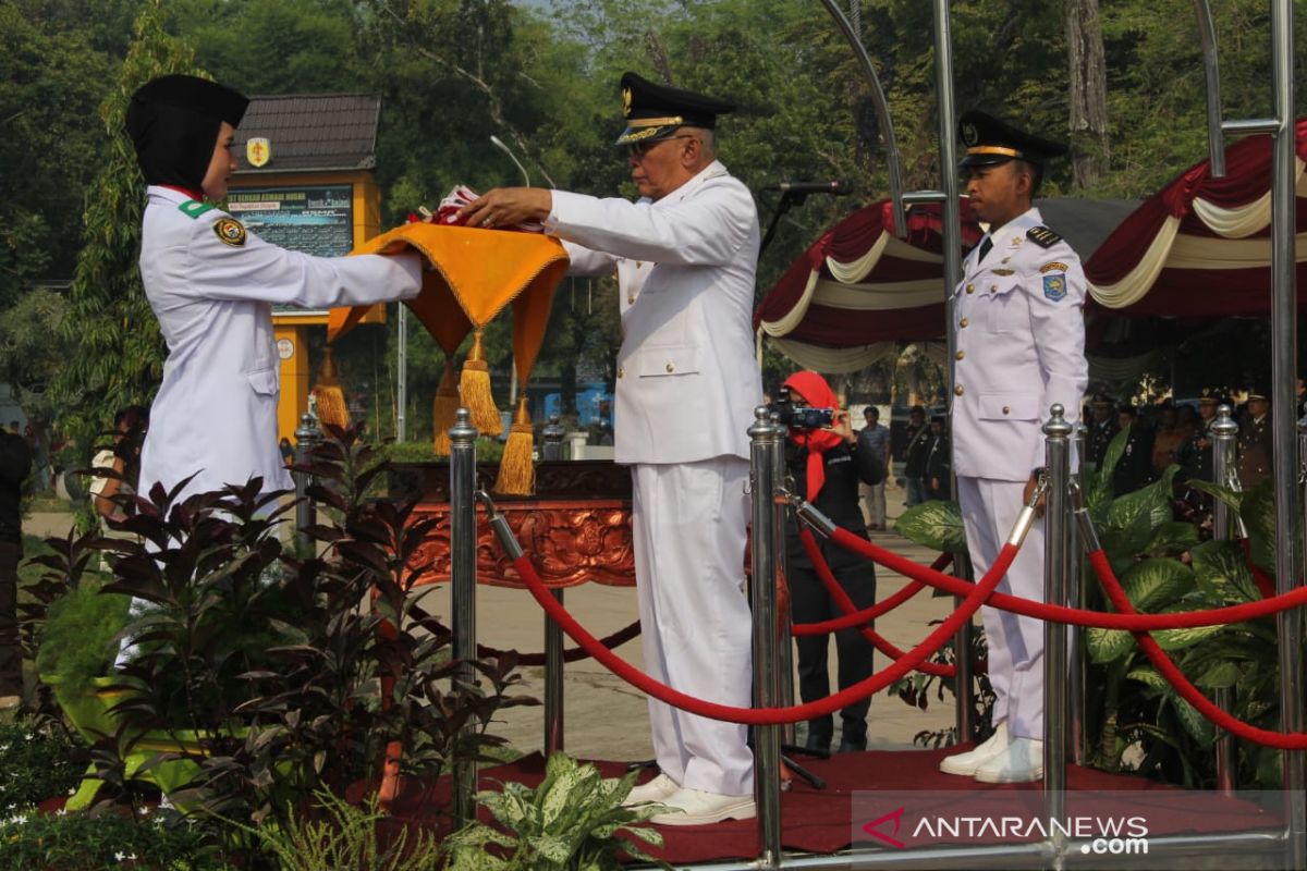
<svg viewBox="0 0 1307 871"><path fill-rule="evenodd" d="M1038 209L989 239L983 261L982 245L967 256L953 294L953 469L978 578L1012 531L1031 471L1044 465L1050 407L1060 402L1074 424L1089 381L1080 257L1042 227ZM999 589L1042 601L1043 578L1039 522ZM1043 623L991 607L982 619L997 696L993 725L1006 720L1009 735L1043 740Z"/></svg>

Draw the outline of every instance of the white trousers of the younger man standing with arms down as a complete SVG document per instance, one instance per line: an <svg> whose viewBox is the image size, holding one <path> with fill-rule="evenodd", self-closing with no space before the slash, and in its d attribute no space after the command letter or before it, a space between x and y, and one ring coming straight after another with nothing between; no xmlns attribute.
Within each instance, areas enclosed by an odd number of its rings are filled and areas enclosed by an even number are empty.
<svg viewBox="0 0 1307 871"><path fill-rule="evenodd" d="M958 478L958 503L967 530L971 564L979 581L999 558L1022 507L1026 484L1019 481ZM999 589L1044 599L1044 524L1035 521L1026 543ZM997 697L993 725L1008 721L1016 738L1044 739L1044 624L989 606L980 609L989 646L989 684Z"/></svg>

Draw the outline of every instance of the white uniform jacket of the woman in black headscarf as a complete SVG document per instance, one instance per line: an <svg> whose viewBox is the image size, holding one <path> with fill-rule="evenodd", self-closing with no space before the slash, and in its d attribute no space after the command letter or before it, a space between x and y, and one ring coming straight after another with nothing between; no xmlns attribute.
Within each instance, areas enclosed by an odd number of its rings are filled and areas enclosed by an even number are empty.
<svg viewBox="0 0 1307 871"><path fill-rule="evenodd" d="M231 215L179 191L150 185L148 193L141 278L169 355L137 492L154 483L171 488L190 475L183 496L255 475L264 491L289 488L277 447L281 360L272 303L328 308L408 299L421 289L421 260L312 257L237 232Z"/></svg>

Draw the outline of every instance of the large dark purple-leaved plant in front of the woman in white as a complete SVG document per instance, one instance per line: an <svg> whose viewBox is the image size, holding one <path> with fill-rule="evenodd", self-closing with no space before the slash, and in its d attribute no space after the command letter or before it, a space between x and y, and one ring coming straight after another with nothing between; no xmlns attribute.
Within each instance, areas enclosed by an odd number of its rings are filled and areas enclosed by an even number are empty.
<svg viewBox="0 0 1307 871"><path fill-rule="evenodd" d="M259 479L180 500L180 484L119 498L133 511L122 528L140 541L98 543L118 558L106 589L146 603L124 629L139 653L120 676L135 692L115 710L186 740L146 768L193 764L171 798L207 812L233 855L267 847L252 828L311 820L323 789L375 786L392 746L403 774L433 784L455 761L489 759L503 744L488 734L494 713L535 704L508 696L515 657L452 661L448 633L416 616L413 565L434 521L414 501L366 496L388 469L375 451L333 430L303 469L336 518L303 530L320 555L284 548L277 526L293 503Z"/></svg>

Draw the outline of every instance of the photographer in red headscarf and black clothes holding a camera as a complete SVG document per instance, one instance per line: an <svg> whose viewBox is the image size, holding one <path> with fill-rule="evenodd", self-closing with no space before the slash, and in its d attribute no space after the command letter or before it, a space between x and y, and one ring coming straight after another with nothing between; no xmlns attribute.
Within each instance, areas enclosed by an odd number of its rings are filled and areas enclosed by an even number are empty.
<svg viewBox="0 0 1307 871"><path fill-rule="evenodd" d="M867 538L863 512L857 504L857 484L877 484L885 478L885 462L874 454L857 451L857 436L848 423L848 411L839 407L835 393L817 372L791 375L783 389L788 402L778 404L782 423L789 427L786 443L786 465L796 488L810 503L855 535ZM823 426L829 422L829 426ZM786 547L789 556L791 619L795 623L819 623L842 616L839 606L826 592L799 539L795 518L787 521ZM822 556L839 585L861 610L876 603L876 568L860 556L819 542ZM796 637L799 648L799 695L816 701L830 695L826 669L830 639ZM872 674L872 645L857 628L835 633L839 658L838 682L844 689ZM867 750L865 699L840 712L843 736L839 752ZM834 718L830 714L808 721L806 748L830 752Z"/></svg>

